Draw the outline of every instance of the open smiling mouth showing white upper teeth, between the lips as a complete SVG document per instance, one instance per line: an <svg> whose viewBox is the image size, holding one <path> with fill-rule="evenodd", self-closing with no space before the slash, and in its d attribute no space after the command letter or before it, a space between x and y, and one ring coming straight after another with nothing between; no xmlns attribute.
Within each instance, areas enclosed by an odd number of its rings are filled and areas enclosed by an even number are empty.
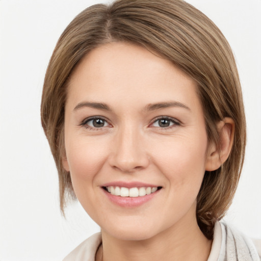
<svg viewBox="0 0 261 261"><path fill-rule="evenodd" d="M111 195L119 197L143 197L155 193L158 190L161 190L162 187L133 187L125 188L118 186L107 186L102 187L103 190L107 191Z"/></svg>

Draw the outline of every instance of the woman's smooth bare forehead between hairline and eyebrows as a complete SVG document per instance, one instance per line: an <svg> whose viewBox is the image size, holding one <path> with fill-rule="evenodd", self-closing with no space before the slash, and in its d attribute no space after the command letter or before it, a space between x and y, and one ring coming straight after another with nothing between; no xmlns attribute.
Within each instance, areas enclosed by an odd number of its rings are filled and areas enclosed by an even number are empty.
<svg viewBox="0 0 261 261"><path fill-rule="evenodd" d="M191 77L170 61L147 49L114 42L93 49L77 65L68 86L68 100L103 99L140 105L175 99L198 103L197 86Z"/></svg>

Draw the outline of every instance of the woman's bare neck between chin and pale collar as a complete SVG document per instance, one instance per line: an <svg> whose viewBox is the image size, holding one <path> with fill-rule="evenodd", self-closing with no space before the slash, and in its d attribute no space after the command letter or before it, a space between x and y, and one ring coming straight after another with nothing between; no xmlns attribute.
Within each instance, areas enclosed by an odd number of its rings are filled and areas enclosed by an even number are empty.
<svg viewBox="0 0 261 261"><path fill-rule="evenodd" d="M102 261L186 260L206 261L212 241L199 229L196 217L180 222L146 240L121 240L101 230ZM183 223L183 224L182 224ZM101 253L102 252L102 253ZM99 259L98 259L99 260Z"/></svg>

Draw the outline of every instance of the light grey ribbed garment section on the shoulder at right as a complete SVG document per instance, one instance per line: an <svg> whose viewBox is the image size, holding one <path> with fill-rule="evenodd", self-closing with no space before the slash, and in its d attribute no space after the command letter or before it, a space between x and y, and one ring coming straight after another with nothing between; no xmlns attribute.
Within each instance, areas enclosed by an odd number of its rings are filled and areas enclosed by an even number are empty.
<svg viewBox="0 0 261 261"><path fill-rule="evenodd" d="M260 261L253 241L240 231L220 222L222 241L218 261Z"/></svg>

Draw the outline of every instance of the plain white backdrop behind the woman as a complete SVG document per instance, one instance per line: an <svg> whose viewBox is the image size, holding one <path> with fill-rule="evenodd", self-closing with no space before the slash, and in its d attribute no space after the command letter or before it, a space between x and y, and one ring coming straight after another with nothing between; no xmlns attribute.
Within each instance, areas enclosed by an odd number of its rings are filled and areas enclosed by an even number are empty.
<svg viewBox="0 0 261 261"><path fill-rule="evenodd" d="M59 210L58 175L40 124L44 73L66 25L90 0L0 0L0 260L61 260L99 227L79 203ZM189 0L228 39L248 145L226 220L261 238L261 0ZM104 3L104 1L103 1Z"/></svg>

